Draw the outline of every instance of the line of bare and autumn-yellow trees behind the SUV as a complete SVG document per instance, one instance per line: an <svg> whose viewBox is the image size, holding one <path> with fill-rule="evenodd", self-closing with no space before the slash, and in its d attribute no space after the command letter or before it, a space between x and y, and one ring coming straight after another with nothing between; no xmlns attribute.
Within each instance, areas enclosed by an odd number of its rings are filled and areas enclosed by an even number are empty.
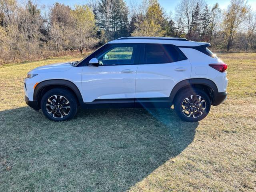
<svg viewBox="0 0 256 192"><path fill-rule="evenodd" d="M84 5L0 0L0 63L88 52L122 36L166 36L210 42L217 51L256 50L256 13L244 0L225 10L180 0L166 13L158 0L89 0Z"/></svg>

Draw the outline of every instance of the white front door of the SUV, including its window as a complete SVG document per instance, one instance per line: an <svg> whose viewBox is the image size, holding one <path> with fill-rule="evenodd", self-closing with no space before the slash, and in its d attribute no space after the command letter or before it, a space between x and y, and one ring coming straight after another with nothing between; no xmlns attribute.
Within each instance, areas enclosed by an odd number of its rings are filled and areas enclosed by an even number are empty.
<svg viewBox="0 0 256 192"><path fill-rule="evenodd" d="M84 102L103 99L134 101L138 56L137 44L110 44L95 55L99 66L84 66L82 71Z"/></svg>

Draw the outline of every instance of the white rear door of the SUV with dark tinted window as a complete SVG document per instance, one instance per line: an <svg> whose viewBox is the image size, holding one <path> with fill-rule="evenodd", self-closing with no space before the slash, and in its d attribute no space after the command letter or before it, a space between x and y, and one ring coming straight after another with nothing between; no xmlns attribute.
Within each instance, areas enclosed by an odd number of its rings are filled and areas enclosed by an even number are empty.
<svg viewBox="0 0 256 192"><path fill-rule="evenodd" d="M176 83L190 78L191 64L170 44L145 44L136 75L135 98L168 98Z"/></svg>

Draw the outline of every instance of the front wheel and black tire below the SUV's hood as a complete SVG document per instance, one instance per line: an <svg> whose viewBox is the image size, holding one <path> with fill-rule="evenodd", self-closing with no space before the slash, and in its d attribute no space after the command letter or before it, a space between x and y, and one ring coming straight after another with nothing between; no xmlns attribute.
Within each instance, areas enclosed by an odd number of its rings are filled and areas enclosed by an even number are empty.
<svg viewBox="0 0 256 192"><path fill-rule="evenodd" d="M76 96L64 88L51 89L41 99L42 112L48 119L53 121L58 122L72 119L76 115L77 108Z"/></svg>

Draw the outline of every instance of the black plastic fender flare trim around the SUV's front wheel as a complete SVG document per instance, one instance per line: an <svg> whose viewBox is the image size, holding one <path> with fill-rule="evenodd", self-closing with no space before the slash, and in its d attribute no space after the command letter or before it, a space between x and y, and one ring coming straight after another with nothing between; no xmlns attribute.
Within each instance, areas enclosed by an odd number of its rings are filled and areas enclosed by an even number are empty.
<svg viewBox="0 0 256 192"><path fill-rule="evenodd" d="M80 103L84 102L82 95L81 95L79 89L77 88L77 86L69 80L62 80L62 79L45 80L45 81L40 82L34 90L33 100L34 101L38 100L38 95L44 87L52 86L52 85L67 86L76 94L76 96L78 98L78 102L80 102Z"/></svg>

